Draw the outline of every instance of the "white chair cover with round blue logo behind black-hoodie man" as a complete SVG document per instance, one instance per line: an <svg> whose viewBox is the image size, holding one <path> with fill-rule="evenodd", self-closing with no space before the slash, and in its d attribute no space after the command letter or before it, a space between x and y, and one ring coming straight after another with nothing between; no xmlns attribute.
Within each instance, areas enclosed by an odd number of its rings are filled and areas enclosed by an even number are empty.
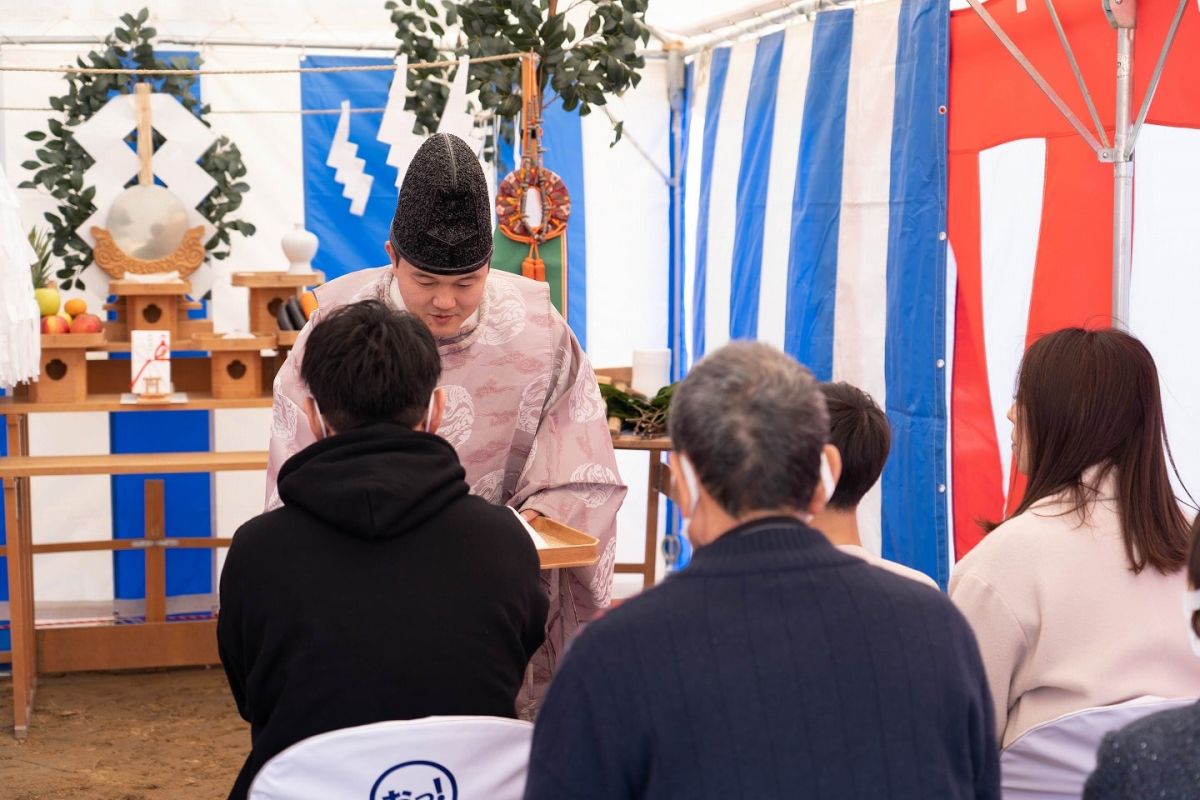
<svg viewBox="0 0 1200 800"><path fill-rule="evenodd" d="M521 800L533 724L498 717L376 722L269 760L250 800Z"/></svg>

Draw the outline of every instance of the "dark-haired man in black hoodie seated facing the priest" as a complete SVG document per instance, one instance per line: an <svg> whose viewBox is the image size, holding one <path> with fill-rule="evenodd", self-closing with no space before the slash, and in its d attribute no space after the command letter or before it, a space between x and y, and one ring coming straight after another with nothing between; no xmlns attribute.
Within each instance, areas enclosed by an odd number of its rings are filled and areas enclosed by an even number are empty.
<svg viewBox="0 0 1200 800"><path fill-rule="evenodd" d="M516 716L545 637L538 553L433 435L440 372L428 329L378 301L336 309L308 338L318 441L283 464L283 506L238 530L221 575L217 644L252 740L230 799L319 733Z"/></svg>

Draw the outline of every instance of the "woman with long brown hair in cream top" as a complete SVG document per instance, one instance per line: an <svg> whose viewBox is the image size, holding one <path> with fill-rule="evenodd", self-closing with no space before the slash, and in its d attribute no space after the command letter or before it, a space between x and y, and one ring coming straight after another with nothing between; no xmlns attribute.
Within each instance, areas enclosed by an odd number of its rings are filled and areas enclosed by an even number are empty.
<svg viewBox="0 0 1200 800"><path fill-rule="evenodd" d="M1200 696L1176 624L1188 518L1150 351L1115 330L1050 333L1021 361L1009 419L1025 495L950 578L1002 746L1072 711Z"/></svg>

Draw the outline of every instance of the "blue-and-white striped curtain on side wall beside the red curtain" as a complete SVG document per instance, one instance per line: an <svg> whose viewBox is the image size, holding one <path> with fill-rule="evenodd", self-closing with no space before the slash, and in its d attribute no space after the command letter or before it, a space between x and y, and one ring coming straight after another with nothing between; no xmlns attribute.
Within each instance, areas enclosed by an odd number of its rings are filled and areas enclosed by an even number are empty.
<svg viewBox="0 0 1200 800"><path fill-rule="evenodd" d="M872 395L893 446L864 543L943 585L948 22L846 7L689 65L672 319L680 368L756 338Z"/></svg>

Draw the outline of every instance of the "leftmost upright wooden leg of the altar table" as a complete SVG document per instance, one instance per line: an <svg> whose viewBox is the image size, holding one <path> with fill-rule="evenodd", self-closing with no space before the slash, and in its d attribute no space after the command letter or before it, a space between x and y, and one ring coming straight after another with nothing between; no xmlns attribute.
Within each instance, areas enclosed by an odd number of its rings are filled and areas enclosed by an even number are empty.
<svg viewBox="0 0 1200 800"><path fill-rule="evenodd" d="M8 452L29 455L29 417L7 416ZM4 486L5 530L8 555L8 616L12 640L13 735L29 735L37 687L37 654L34 634L32 523L29 519L29 479L10 479Z"/></svg>

